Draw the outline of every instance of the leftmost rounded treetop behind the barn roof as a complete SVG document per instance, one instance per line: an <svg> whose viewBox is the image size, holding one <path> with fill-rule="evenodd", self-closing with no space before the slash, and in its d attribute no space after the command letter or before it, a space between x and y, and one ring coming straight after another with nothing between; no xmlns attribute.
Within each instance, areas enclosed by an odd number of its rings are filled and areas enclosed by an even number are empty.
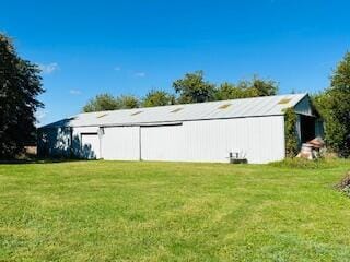
<svg viewBox="0 0 350 262"><path fill-rule="evenodd" d="M118 102L110 94L96 95L94 98L90 99L88 104L83 107L84 112L92 111L105 111L105 110L116 110L119 109Z"/></svg>

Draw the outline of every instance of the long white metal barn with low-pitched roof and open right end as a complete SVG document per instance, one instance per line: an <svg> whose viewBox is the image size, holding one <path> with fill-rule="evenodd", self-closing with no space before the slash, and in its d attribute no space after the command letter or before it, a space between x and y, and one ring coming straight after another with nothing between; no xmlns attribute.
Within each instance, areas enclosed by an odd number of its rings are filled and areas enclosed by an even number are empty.
<svg viewBox="0 0 350 262"><path fill-rule="evenodd" d="M120 160L248 163L284 158L283 109L298 114L300 142L322 133L307 94L79 114L42 127L46 156Z"/></svg>

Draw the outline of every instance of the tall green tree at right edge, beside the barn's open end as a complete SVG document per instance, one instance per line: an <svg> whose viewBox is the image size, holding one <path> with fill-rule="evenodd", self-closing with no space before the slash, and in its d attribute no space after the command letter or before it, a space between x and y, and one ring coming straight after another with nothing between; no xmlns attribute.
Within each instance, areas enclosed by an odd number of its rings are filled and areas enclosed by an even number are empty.
<svg viewBox="0 0 350 262"><path fill-rule="evenodd" d="M342 157L350 156L350 52L338 63L330 86L314 97L325 120L327 146Z"/></svg>

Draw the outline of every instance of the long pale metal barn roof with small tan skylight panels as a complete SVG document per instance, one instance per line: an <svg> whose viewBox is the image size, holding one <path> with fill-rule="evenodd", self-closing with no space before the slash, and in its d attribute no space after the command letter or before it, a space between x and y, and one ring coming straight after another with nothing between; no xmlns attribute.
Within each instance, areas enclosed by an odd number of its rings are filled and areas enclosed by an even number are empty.
<svg viewBox="0 0 350 262"><path fill-rule="evenodd" d="M139 126L192 120L278 116L283 115L284 108L295 107L295 105L306 96L307 94L290 94L186 105L83 112L44 126L43 128Z"/></svg>

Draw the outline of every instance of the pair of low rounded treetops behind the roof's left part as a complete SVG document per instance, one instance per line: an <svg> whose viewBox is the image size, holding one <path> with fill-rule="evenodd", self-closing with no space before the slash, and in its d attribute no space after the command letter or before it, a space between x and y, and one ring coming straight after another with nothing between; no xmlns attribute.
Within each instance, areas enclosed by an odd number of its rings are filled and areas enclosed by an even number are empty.
<svg viewBox="0 0 350 262"><path fill-rule="evenodd" d="M139 107L139 99L132 95L114 97L110 94L96 95L83 107L84 112L127 109Z"/></svg>

